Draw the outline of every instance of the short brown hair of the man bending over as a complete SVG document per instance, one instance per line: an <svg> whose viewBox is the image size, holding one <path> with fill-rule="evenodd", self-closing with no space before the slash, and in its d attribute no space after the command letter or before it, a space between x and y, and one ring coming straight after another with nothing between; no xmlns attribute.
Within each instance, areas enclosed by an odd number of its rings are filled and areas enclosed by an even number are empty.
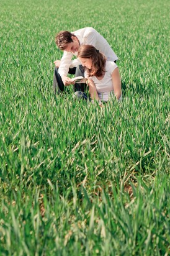
<svg viewBox="0 0 170 256"><path fill-rule="evenodd" d="M76 37L76 35L71 34L69 31L61 31L55 37L55 42L60 50L65 50L68 43L73 42L71 37Z"/></svg>

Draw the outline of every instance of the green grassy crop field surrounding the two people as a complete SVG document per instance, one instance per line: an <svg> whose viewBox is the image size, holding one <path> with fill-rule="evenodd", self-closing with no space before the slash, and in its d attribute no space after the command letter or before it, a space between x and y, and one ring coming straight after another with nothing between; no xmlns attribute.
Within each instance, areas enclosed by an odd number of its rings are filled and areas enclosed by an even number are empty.
<svg viewBox="0 0 170 256"><path fill-rule="evenodd" d="M0 255L169 255L169 1L1 0ZM94 27L123 101L53 94L60 30Z"/></svg>

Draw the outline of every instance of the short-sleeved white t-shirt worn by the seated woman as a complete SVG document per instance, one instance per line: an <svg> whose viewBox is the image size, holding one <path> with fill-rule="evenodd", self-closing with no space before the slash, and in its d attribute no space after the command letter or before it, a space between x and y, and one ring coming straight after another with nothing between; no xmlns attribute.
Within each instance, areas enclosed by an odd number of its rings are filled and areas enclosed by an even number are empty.
<svg viewBox="0 0 170 256"><path fill-rule="evenodd" d="M112 82L112 73L117 68L114 62L105 62L105 75L102 80L98 80L96 76L89 77L96 85L96 90L101 101L108 101L110 94L114 93L114 86ZM85 77L88 77L87 71L84 73ZM121 96L122 97L122 96ZM120 97L120 98L121 98Z"/></svg>

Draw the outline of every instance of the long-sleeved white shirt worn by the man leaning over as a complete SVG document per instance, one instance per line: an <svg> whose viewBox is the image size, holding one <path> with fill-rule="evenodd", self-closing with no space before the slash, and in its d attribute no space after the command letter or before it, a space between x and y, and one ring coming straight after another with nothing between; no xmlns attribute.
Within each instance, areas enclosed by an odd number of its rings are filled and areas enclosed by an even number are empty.
<svg viewBox="0 0 170 256"><path fill-rule="evenodd" d="M112 62L118 60L117 55L115 55L107 40L105 40L104 37L102 37L102 35L92 27L84 27L84 29L79 29L71 33L78 37L80 45L93 45L97 50L99 50L99 52L104 53L107 60L111 60ZM77 52L74 53L74 56L77 54ZM72 52L64 51L63 57L61 58L60 68L58 69L58 73L61 77L63 75L68 75L69 68L81 65L78 58L71 60L72 58Z"/></svg>

